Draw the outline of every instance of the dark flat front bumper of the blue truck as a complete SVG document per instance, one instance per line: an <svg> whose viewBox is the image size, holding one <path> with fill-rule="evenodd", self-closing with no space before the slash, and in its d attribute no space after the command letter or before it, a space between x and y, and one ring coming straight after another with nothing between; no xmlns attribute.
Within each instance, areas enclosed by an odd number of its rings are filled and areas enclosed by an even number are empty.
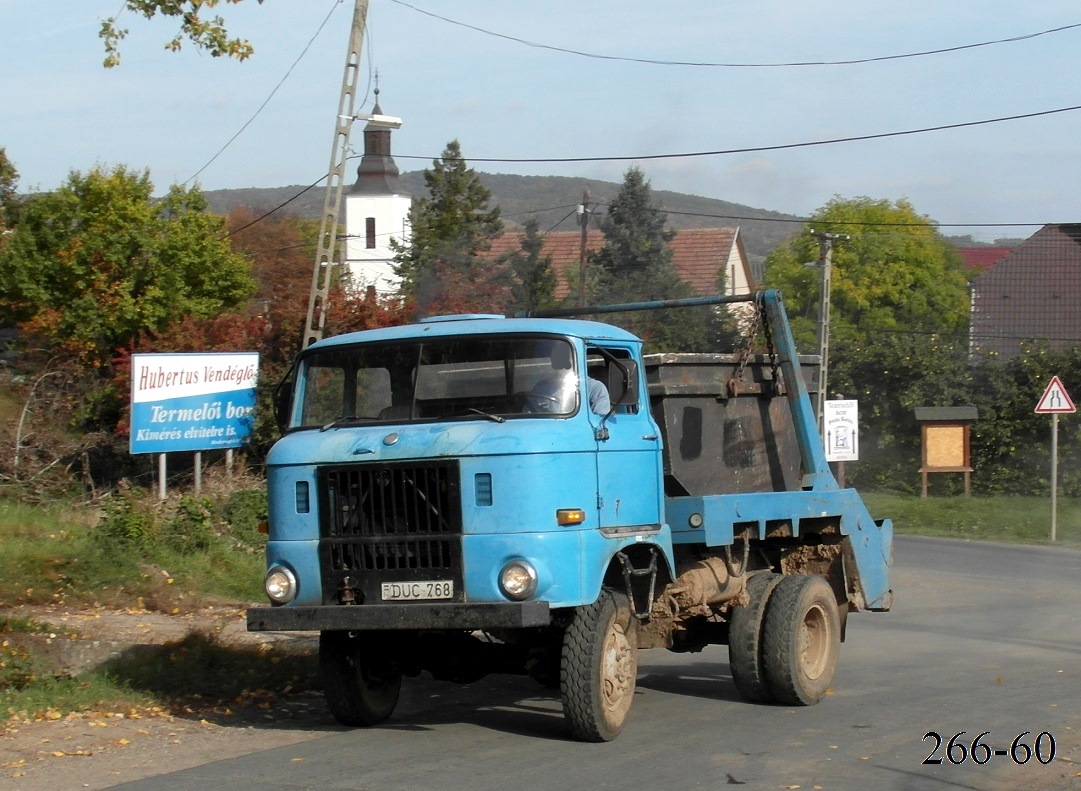
<svg viewBox="0 0 1081 791"><path fill-rule="evenodd" d="M550 620L548 602L252 607L248 611L248 631L522 629L546 627Z"/></svg>

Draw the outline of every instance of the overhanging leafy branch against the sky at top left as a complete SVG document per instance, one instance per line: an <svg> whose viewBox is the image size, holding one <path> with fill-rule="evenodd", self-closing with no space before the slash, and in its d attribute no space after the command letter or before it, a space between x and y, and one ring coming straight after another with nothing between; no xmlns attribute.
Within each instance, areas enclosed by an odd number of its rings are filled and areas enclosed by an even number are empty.
<svg viewBox="0 0 1081 791"><path fill-rule="evenodd" d="M230 38L225 28L225 21L221 16L211 19L201 16L204 9L212 9L221 0L124 0L121 11L142 14L147 19L159 15L178 17L181 30L165 44L165 49L171 52L179 50L186 39L197 49L209 52L214 57L225 55L244 61L255 51L251 42ZM242 0L226 0L226 2L239 3ZM262 3L263 0L256 2ZM119 16L118 13L106 18L98 31L98 37L105 44L106 68L112 68L120 63L120 42L128 36L126 28L117 27Z"/></svg>

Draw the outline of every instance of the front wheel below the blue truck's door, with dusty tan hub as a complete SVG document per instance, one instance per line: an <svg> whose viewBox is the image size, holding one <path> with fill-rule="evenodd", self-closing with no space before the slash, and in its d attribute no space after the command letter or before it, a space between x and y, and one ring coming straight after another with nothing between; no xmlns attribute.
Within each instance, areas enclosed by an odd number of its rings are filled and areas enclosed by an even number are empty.
<svg viewBox="0 0 1081 791"><path fill-rule="evenodd" d="M638 675L638 621L623 593L604 589L563 634L560 697L571 734L611 741L623 729Z"/></svg>

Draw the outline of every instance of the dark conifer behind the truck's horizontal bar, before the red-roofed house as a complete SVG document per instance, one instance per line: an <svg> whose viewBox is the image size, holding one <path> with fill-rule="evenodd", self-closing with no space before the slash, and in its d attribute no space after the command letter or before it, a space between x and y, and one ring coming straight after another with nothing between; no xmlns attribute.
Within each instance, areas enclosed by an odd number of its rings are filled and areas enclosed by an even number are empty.
<svg viewBox="0 0 1081 791"><path fill-rule="evenodd" d="M589 256L596 300L622 304L692 296L691 285L672 266L668 242L676 231L665 227L666 220L645 175L630 167L599 223L604 244ZM653 351L706 351L718 339L717 317L709 308L680 308L617 314L610 320L646 340Z"/></svg>

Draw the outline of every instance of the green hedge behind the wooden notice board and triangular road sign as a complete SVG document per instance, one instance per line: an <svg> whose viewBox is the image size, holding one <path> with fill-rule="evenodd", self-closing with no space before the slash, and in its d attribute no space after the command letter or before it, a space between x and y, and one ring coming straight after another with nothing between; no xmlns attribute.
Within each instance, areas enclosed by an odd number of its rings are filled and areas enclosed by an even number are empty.
<svg viewBox="0 0 1081 791"><path fill-rule="evenodd" d="M1012 360L971 357L961 339L898 333L873 344L840 341L830 360L830 397L859 400L859 461L845 468L863 490L919 492L920 406L974 405L972 488L982 495L1042 495L1051 488L1051 420L1033 410L1058 375L1081 396L1081 349L1026 347ZM1059 421L1059 493L1081 496L1081 418ZM932 475L943 494L960 475Z"/></svg>

